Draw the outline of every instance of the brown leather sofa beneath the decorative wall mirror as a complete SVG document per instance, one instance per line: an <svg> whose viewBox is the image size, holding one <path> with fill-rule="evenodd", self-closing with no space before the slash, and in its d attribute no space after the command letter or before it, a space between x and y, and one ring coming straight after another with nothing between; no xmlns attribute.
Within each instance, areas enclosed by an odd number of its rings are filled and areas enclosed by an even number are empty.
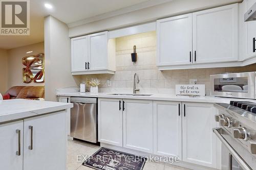
<svg viewBox="0 0 256 170"><path fill-rule="evenodd" d="M30 99L36 100L45 98L44 86L13 86L6 91L10 94L11 99Z"/></svg>

